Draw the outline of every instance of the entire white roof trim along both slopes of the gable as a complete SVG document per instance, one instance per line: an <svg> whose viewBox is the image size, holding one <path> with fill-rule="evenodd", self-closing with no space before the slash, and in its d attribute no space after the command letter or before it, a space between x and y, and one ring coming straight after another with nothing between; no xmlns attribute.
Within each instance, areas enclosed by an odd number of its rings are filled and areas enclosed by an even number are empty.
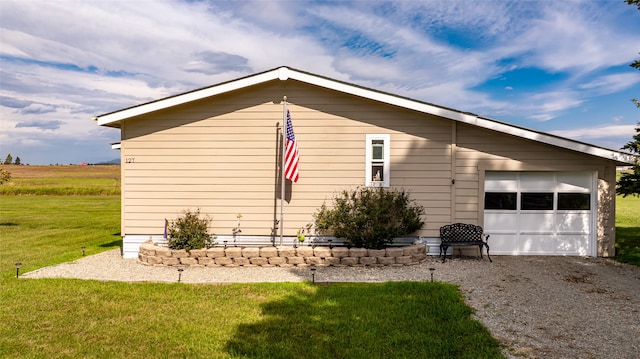
<svg viewBox="0 0 640 359"><path fill-rule="evenodd" d="M219 85L187 92L181 95L168 97L158 101L149 102L140 106L130 107L120 111L115 111L105 115L97 116L100 126L110 125L130 117L143 115L149 112L166 109L172 106L182 105L188 102L201 100L207 97L223 94L226 92L239 90L252 85L257 85L267 81L279 79L286 81L289 79L309 83L315 86L324 87L327 89L340 91L343 93L351 94L354 96L363 97L366 99L395 105L398 107L415 110L418 112L428 113L451 120L475 125L478 127L490 129L497 132L506 133L509 135L526 138L529 140L546 143L549 145L578 151L593 156L606 158L609 160L619 161L623 163L634 163L635 156L626 154L624 152L614 151L606 148L601 148L586 143L573 141L570 139L545 134L542 132L532 131L517 126L508 125L498 121L481 118L473 114L468 114L444 107L431 105L425 102L411 100L403 97L398 97L384 92L379 92L364 87L351 85L345 82L332 80L326 77L316 76L310 73L301 72L288 67L280 67L274 70L266 71L260 74L244 77L238 80L225 82Z"/></svg>

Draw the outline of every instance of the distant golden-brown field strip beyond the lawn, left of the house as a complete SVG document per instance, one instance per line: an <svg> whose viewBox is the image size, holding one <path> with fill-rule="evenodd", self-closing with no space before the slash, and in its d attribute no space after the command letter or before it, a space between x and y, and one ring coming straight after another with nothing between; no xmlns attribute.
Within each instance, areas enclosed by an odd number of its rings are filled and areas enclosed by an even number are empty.
<svg viewBox="0 0 640 359"><path fill-rule="evenodd" d="M2 165L11 181L0 195L116 196L120 195L120 166Z"/></svg>

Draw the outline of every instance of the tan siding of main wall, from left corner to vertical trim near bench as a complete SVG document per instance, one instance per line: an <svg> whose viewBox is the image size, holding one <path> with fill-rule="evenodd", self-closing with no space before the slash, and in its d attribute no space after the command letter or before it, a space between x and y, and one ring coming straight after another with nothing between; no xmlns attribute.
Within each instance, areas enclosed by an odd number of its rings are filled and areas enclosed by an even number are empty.
<svg viewBox="0 0 640 359"><path fill-rule="evenodd" d="M287 182L285 235L342 189L364 184L365 135L391 135L391 186L426 207L420 234L451 221L451 126L447 120L296 82L274 81L129 119L122 126L123 235L161 234L164 218L200 208L213 232L270 235L280 218L282 96L300 151ZM129 163L127 163L129 159Z"/></svg>

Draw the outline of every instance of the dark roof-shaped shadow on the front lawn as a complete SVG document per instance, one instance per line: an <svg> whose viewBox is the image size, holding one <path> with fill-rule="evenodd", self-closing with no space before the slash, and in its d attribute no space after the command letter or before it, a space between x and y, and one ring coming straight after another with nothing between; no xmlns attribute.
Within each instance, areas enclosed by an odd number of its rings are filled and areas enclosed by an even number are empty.
<svg viewBox="0 0 640 359"><path fill-rule="evenodd" d="M261 307L226 345L248 358L502 358L457 287L443 283L304 286Z"/></svg>

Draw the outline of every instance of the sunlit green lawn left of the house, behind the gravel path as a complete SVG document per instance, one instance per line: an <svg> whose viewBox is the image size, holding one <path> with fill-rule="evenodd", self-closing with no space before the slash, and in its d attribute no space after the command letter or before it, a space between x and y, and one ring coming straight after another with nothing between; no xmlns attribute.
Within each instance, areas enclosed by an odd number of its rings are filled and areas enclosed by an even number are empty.
<svg viewBox="0 0 640 359"><path fill-rule="evenodd" d="M0 264L29 271L118 248L120 197L0 196Z"/></svg>

